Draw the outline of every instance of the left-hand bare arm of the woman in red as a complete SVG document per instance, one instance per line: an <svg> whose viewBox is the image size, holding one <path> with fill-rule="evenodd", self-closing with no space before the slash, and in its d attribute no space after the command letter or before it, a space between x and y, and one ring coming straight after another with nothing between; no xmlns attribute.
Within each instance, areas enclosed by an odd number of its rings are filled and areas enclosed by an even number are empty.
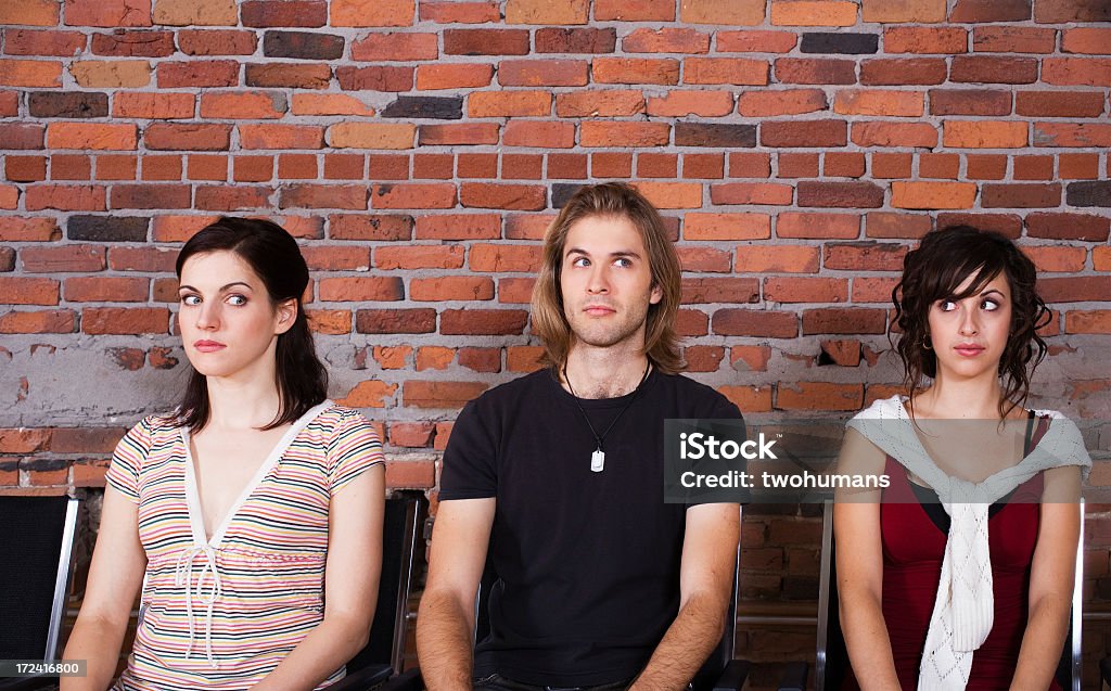
<svg viewBox="0 0 1111 691"><path fill-rule="evenodd" d="M883 472L885 457L855 430L845 431L838 472ZM883 621L883 545L880 492L842 493L833 504L837 539L837 584L841 629L857 681L869 689L899 689L891 640Z"/></svg>

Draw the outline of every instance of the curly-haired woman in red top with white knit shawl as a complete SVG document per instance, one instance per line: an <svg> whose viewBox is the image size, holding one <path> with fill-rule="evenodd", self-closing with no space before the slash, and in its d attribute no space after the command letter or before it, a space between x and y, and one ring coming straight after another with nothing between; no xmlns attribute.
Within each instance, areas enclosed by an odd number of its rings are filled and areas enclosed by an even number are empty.
<svg viewBox="0 0 1111 691"><path fill-rule="evenodd" d="M1091 460L1025 408L1049 312L1007 238L928 233L892 292L909 395L849 423L834 505L841 623L864 689L1057 689Z"/></svg>

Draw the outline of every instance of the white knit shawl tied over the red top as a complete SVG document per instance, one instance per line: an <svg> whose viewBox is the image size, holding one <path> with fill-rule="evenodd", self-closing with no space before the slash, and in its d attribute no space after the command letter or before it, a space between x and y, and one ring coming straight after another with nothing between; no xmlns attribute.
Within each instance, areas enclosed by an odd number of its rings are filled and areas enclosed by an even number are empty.
<svg viewBox="0 0 1111 691"><path fill-rule="evenodd" d="M900 395L875 401L849 421L850 428L929 483L951 519L919 671L919 691L963 691L972 654L991 631L994 598L988 548L989 507L1049 468L1080 465L1084 477L1091 469L1092 460L1077 425L1057 411L1034 412L1051 418L1045 434L1017 465L982 482L952 478L938 467L914 433Z"/></svg>

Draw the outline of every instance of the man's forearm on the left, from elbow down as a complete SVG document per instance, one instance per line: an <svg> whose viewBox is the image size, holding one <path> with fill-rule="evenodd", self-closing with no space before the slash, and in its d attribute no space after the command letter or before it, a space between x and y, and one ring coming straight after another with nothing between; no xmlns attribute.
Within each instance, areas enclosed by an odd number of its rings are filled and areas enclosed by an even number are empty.
<svg viewBox="0 0 1111 691"><path fill-rule="evenodd" d="M470 691L473 633L467 612L444 594L424 593L417 617L417 658L429 691Z"/></svg>

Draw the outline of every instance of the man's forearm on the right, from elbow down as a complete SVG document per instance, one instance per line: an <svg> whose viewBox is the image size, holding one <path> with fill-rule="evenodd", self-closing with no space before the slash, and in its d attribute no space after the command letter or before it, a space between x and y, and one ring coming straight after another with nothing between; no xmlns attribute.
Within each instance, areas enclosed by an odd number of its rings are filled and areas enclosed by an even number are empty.
<svg viewBox="0 0 1111 691"><path fill-rule="evenodd" d="M655 647L631 691L674 691L687 687L721 641L727 612L728 605L722 607L718 598L691 595Z"/></svg>

